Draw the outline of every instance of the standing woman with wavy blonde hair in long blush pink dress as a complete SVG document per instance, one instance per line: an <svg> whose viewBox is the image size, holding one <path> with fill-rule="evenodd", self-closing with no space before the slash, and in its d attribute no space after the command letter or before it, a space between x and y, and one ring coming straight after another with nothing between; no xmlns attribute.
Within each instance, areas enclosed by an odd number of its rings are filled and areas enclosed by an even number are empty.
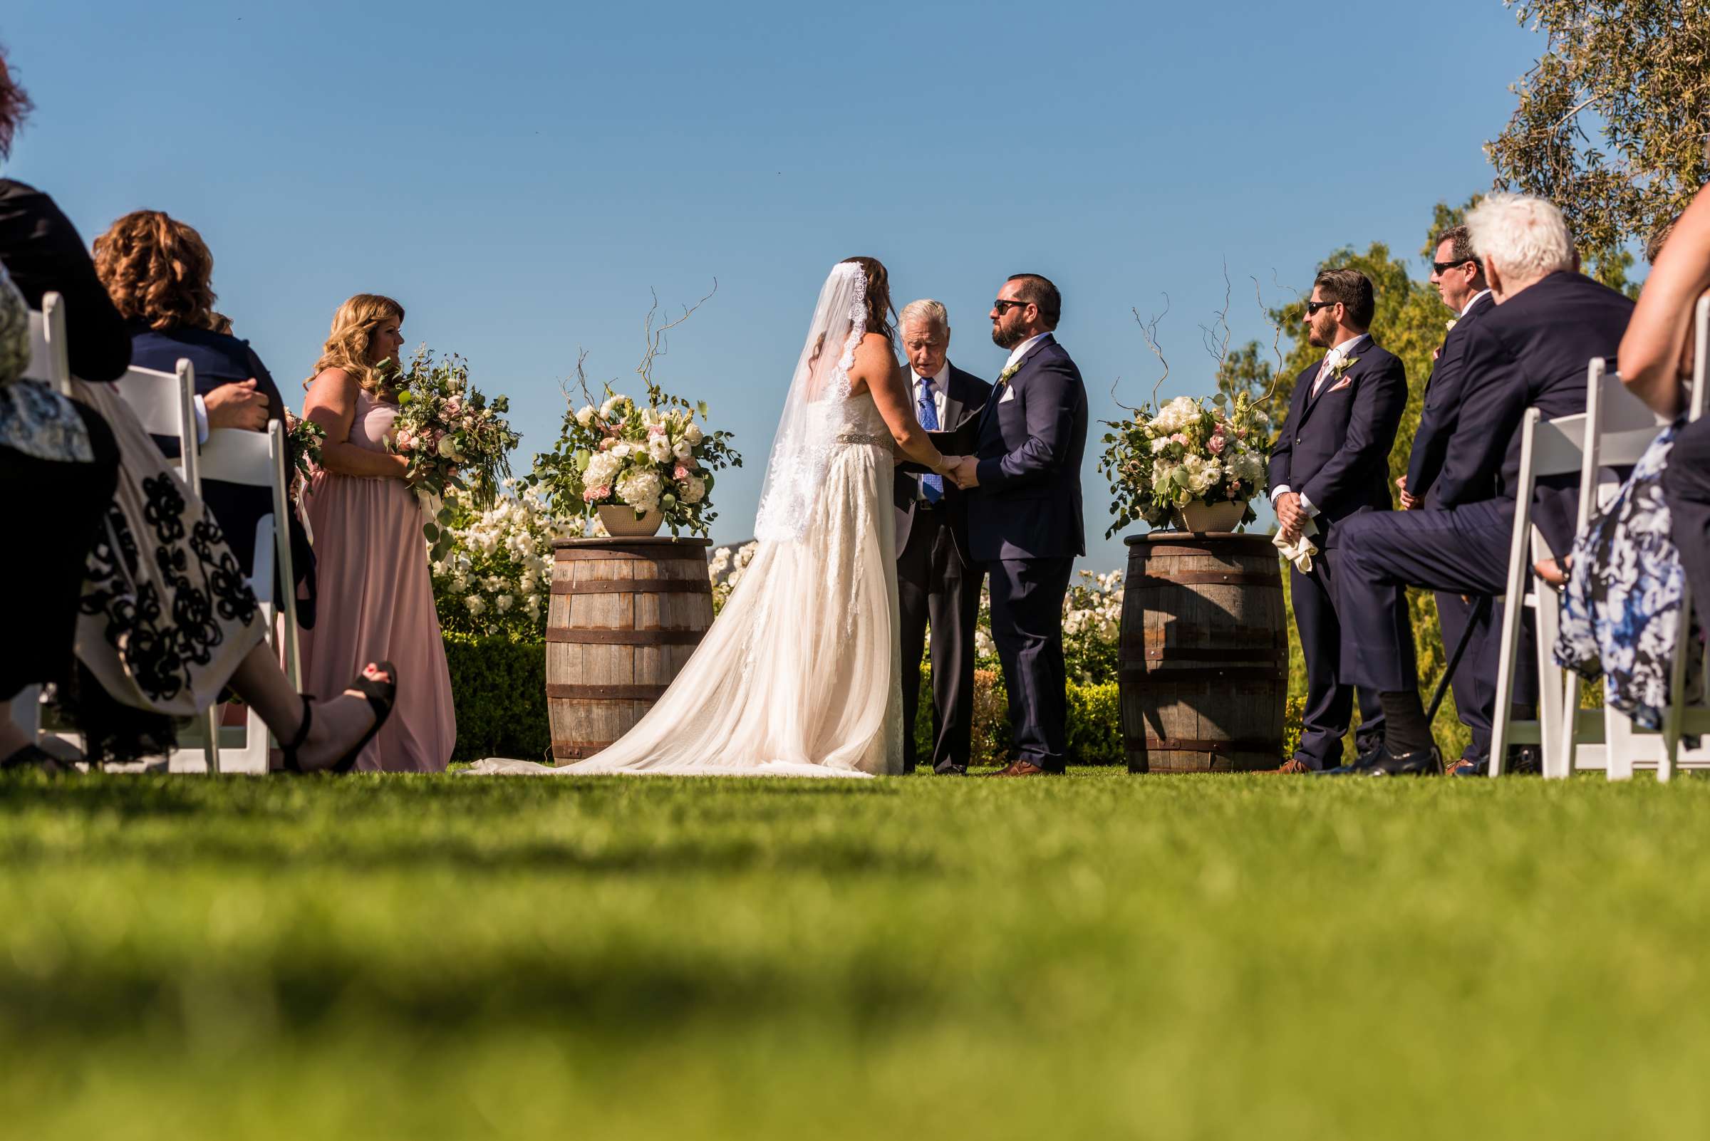
<svg viewBox="0 0 1710 1141"><path fill-rule="evenodd" d="M357 760L361 770L445 772L457 743L451 675L439 641L422 514L386 451L398 407L378 366L397 362L404 307L357 294L332 319L308 381L303 415L327 429L320 470L303 497L315 535L318 617L303 630L303 688L337 697L373 659L410 680L392 719Z"/></svg>

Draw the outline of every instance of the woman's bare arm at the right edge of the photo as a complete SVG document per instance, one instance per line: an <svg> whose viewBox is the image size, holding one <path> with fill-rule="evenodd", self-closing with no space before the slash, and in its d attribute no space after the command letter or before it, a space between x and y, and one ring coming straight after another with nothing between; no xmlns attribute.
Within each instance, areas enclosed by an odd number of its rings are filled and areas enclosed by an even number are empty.
<svg viewBox="0 0 1710 1141"><path fill-rule="evenodd" d="M1657 255L1621 338L1621 379L1635 396L1667 417L1686 405L1679 366L1693 331L1695 302L1707 287L1710 193L1700 190Z"/></svg>

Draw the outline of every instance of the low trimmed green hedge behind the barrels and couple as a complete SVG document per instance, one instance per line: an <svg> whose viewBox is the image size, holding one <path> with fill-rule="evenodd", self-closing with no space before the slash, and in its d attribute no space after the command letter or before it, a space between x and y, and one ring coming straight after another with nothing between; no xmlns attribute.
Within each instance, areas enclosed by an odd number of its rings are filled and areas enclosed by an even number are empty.
<svg viewBox="0 0 1710 1141"><path fill-rule="evenodd" d="M549 760L552 733L545 717L545 644L504 637L445 635L457 704L457 752L451 760L522 757ZM982 670L975 685L975 764L997 764L1009 752L1004 682ZM932 680L922 671L915 746L932 755ZM1117 683L1069 685L1069 758L1079 765L1120 765L1122 723Z"/></svg>

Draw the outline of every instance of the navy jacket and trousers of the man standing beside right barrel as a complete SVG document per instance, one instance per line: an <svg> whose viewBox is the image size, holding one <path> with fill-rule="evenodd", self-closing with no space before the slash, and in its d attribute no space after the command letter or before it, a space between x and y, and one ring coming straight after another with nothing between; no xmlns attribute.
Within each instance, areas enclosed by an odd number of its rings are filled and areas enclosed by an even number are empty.
<svg viewBox="0 0 1710 1141"><path fill-rule="evenodd" d="M1354 690L1342 685L1342 623L1336 596L1336 528L1370 511L1389 511L1389 453L1407 407L1407 369L1370 335L1347 350L1354 360L1312 395L1322 359L1294 379L1288 420L1271 453L1271 487L1288 485L1318 509L1320 553L1308 574L1289 569L1294 629L1306 659L1306 709L1296 757L1313 769L1341 762L1353 721ZM1394 591L1390 608L1400 593ZM1394 615L1392 615L1394 617ZM1359 692L1359 750L1383 740L1377 692Z"/></svg>

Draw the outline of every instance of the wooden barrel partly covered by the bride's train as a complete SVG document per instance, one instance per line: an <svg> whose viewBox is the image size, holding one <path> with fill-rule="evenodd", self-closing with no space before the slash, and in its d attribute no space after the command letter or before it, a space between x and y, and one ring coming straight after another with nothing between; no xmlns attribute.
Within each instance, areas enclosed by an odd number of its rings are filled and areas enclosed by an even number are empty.
<svg viewBox="0 0 1710 1141"><path fill-rule="evenodd" d="M600 752L641 719L713 623L705 538L552 543L545 707L552 758Z"/></svg>

